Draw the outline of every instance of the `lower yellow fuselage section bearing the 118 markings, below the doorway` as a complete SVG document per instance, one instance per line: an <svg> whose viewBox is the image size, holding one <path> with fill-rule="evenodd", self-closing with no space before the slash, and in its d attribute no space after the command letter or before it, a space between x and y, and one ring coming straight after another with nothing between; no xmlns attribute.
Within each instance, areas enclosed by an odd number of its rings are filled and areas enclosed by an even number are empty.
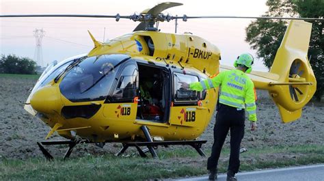
<svg viewBox="0 0 324 181"><path fill-rule="evenodd" d="M98 112L90 119L77 117L65 120L59 115L48 115L50 120L55 118L55 121L49 124L51 127L56 122L64 124L62 129L90 126L90 128L75 130L77 135L83 138L93 139L94 135L96 135L95 137L98 140L115 140L114 136L116 134L118 134L118 139L127 139L134 135L144 138L140 127L146 125L150 129L152 136L162 137L165 140L183 140L195 139L204 132L215 109L217 89L208 90L206 99L202 100L201 107L172 107L170 120L167 123L154 123L136 119L136 103L105 104L104 101L70 102L64 96L62 96L62 101L65 106L90 105L94 103L102 105ZM128 111L128 108L130 108L130 111ZM181 113L181 110L185 111ZM193 112L195 112L195 115L193 115ZM188 115L189 113L191 115ZM58 133L61 134L60 132ZM64 134L66 133L64 132Z"/></svg>

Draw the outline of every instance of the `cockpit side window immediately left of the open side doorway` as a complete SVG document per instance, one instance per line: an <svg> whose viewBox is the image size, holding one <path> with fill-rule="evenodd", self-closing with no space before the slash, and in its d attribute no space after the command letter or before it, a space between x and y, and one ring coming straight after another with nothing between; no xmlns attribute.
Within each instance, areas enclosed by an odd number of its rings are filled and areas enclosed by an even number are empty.
<svg viewBox="0 0 324 181"><path fill-rule="evenodd" d="M111 95L112 102L131 102L137 95L138 69L135 64L127 65L122 73Z"/></svg>

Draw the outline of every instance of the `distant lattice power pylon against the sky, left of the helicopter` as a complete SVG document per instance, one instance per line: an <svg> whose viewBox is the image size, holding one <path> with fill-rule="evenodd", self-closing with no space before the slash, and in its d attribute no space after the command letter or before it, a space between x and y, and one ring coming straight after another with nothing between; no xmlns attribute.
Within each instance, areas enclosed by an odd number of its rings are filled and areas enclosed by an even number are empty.
<svg viewBox="0 0 324 181"><path fill-rule="evenodd" d="M43 53L42 53L42 38L45 36L45 31L43 29L35 29L33 31L33 36L36 38L36 48L33 59L36 60L38 66L44 66Z"/></svg>

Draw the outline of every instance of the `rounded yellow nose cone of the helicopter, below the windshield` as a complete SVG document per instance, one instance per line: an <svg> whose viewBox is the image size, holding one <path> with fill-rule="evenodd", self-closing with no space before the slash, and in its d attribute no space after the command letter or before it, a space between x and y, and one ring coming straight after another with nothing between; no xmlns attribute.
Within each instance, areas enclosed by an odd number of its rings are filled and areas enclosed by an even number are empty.
<svg viewBox="0 0 324 181"><path fill-rule="evenodd" d="M30 104L40 113L59 112L62 108L62 101L58 87L42 87L31 96Z"/></svg>

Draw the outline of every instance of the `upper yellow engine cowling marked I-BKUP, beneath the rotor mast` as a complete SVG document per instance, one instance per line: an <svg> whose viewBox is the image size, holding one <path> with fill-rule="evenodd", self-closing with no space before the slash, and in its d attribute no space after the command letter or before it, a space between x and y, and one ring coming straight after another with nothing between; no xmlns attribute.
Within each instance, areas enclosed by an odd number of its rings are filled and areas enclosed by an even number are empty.
<svg viewBox="0 0 324 181"><path fill-rule="evenodd" d="M111 53L150 55L148 38L151 38L154 44L154 54L150 56L152 60L160 58L166 61L180 61L180 64L190 64L209 75L219 71L219 49L207 40L191 34L136 31L97 46L88 56Z"/></svg>

